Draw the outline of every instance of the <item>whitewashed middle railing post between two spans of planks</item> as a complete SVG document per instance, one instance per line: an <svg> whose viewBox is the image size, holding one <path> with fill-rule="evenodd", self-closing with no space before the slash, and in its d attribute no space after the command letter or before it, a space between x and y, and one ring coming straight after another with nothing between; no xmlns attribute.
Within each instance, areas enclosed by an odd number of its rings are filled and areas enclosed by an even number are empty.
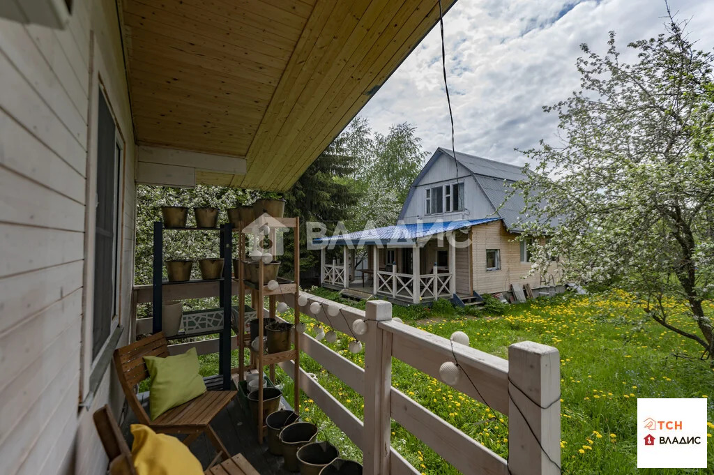
<svg viewBox="0 0 714 475"><path fill-rule="evenodd" d="M365 314L362 465L365 475L386 475L391 446L392 335L380 329L378 322L392 319L392 304L368 301Z"/></svg>

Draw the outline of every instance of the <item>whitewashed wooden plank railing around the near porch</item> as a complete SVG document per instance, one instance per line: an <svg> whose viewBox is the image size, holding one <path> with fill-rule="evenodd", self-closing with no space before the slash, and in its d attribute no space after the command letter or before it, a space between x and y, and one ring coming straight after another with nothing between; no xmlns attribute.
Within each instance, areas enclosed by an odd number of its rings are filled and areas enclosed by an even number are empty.
<svg viewBox="0 0 714 475"><path fill-rule="evenodd" d="M215 288L215 286L213 286ZM206 286L176 285L164 299L215 296ZM304 294L304 293L303 293ZM418 475L391 447L391 419L411 432L464 474L551 475L560 473L560 364L558 350L531 341L508 348L508 360L448 339L392 321L386 301L368 301L366 311L341 306L337 317L326 310L333 301L311 294L301 312L313 316L364 344L365 367L332 351L308 334L300 334L301 350L324 369L364 397L364 421L341 404L301 369L301 389L363 451L364 473L369 475ZM134 289L134 305L151 300L151 286ZM294 296L284 296L295 308ZM313 302L321 304L316 314ZM356 335L353 321L366 322L367 331ZM136 325L141 326L139 321ZM136 326L134 327L136 328ZM235 338L232 339L235 344ZM196 346L199 354L218 351L218 340L169 346L172 354ZM441 379L446 361L458 364L460 378L451 387L508 415L508 460L433 414L391 385L391 361L399 359L418 371ZM279 366L292 374L293 362Z"/></svg>

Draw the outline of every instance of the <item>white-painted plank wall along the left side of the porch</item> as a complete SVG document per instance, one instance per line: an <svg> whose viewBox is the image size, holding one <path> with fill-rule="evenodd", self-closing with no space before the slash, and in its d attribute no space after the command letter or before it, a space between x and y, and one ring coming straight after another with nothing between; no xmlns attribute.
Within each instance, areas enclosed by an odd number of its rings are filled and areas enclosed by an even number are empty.
<svg viewBox="0 0 714 475"><path fill-rule="evenodd" d="M84 288L93 69L124 135L119 322L129 321L134 136L113 0L74 0L64 30L0 19L0 473L100 474L91 412L121 404L106 371L80 409L91 368ZM94 49L92 43L94 31ZM89 211L88 211L89 210ZM89 214L88 214L89 213ZM125 331L120 344L126 341ZM89 326L91 336L91 326ZM86 338L84 338L86 340ZM91 339L89 340L91 345ZM85 387L83 387L85 386Z"/></svg>

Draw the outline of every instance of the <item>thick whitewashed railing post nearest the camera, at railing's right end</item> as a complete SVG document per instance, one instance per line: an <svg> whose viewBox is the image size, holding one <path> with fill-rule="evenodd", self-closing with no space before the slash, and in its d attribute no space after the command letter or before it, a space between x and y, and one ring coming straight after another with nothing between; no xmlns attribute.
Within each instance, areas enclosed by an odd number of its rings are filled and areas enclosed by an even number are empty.
<svg viewBox="0 0 714 475"><path fill-rule="evenodd" d="M553 346L508 347L508 473L560 474L560 360Z"/></svg>

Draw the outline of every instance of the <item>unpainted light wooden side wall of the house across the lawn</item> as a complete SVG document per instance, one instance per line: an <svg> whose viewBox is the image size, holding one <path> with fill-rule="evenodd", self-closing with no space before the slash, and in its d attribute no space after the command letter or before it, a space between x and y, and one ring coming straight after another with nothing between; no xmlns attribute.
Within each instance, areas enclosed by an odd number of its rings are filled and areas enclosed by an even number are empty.
<svg viewBox="0 0 714 475"><path fill-rule="evenodd" d="M521 262L521 246L516 234L506 230L501 221L479 224L471 228L473 247L473 289L479 294L507 291L511 284L540 285L540 276L535 274L523 279L531 270L531 264ZM501 269L486 270L486 249L501 250Z"/></svg>

